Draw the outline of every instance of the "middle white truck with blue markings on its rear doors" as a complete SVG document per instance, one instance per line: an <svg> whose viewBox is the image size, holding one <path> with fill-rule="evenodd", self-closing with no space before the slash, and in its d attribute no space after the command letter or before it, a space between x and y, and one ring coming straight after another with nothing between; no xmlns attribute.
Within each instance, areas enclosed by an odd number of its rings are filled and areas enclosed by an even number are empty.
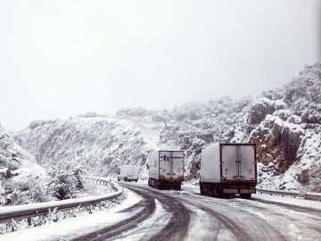
<svg viewBox="0 0 321 241"><path fill-rule="evenodd" d="M184 180L184 151L156 151L149 155L148 186L180 190Z"/></svg>

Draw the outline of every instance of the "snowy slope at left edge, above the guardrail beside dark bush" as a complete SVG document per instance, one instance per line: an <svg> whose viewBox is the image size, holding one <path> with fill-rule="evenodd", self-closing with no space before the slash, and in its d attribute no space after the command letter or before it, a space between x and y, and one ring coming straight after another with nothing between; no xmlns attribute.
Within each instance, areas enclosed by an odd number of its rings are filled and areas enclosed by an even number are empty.
<svg viewBox="0 0 321 241"><path fill-rule="evenodd" d="M0 206L45 200L47 175L0 126Z"/></svg>

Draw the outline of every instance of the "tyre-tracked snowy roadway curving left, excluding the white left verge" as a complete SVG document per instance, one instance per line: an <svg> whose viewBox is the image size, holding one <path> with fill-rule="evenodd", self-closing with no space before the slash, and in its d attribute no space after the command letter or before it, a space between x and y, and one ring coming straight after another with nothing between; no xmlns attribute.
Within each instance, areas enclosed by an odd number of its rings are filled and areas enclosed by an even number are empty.
<svg viewBox="0 0 321 241"><path fill-rule="evenodd" d="M142 183L119 184L143 197L122 211L136 215L75 240L321 240L316 210L202 196L187 187L173 191Z"/></svg>

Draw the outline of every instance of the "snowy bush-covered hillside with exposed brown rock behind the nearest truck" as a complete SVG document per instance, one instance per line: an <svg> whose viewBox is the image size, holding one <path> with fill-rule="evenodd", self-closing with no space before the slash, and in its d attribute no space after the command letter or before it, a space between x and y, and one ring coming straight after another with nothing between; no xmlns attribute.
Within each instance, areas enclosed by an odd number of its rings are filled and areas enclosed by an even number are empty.
<svg viewBox="0 0 321 241"><path fill-rule="evenodd" d="M169 112L161 139L177 142L194 162L210 142L254 142L259 186L321 192L321 64L307 65L283 88L256 99L225 97Z"/></svg>

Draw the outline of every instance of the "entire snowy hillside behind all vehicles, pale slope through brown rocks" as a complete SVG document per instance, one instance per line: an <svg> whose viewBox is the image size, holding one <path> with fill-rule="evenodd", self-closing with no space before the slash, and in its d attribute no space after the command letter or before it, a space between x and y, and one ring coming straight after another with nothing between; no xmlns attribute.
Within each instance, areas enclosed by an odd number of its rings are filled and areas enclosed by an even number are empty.
<svg viewBox="0 0 321 241"><path fill-rule="evenodd" d="M70 120L30 123L17 142L49 167L73 160L97 175L119 165L145 170L150 151L183 149L187 179L198 178L195 163L212 142L255 142L260 187L321 192L321 65L305 66L300 75L258 99L226 96L173 110L122 109L115 118L95 114Z"/></svg>

